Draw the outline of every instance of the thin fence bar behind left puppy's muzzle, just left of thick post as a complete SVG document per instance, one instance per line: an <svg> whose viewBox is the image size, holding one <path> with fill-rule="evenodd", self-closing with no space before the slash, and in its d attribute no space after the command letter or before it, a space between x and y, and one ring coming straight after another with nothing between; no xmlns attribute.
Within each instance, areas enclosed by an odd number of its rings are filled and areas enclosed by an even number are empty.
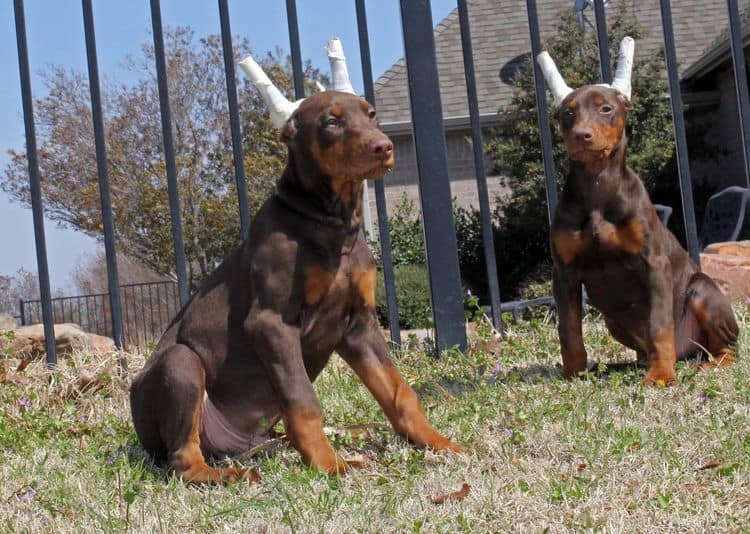
<svg viewBox="0 0 750 534"><path fill-rule="evenodd" d="M367 31L367 9L365 0L356 0L357 31L359 33L359 55L362 61L362 80L365 98L375 106L375 85L372 80L372 62L370 60L370 37ZM383 281L385 282L385 300L388 304L388 328L391 332L391 343L401 345L401 328L398 324L398 304L396 302L396 283L393 274L393 254L391 251L391 233L388 229L388 208L385 201L385 178L375 181L375 207L378 212L378 234L380 235L380 259L383 262Z"/></svg>

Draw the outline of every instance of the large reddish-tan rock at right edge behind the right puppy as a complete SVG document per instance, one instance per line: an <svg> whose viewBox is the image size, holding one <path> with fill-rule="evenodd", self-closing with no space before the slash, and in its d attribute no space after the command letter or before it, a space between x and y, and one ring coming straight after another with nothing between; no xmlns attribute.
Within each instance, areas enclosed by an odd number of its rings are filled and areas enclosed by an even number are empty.
<svg viewBox="0 0 750 534"><path fill-rule="evenodd" d="M701 270L716 280L730 299L750 299L750 241L707 246L701 253Z"/></svg>

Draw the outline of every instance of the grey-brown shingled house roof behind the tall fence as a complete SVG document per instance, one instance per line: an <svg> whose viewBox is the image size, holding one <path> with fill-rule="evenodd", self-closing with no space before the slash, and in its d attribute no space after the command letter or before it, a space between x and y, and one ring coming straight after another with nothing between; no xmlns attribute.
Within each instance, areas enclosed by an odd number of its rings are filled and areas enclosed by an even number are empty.
<svg viewBox="0 0 750 534"><path fill-rule="evenodd" d="M748 0L741 3L744 5ZM628 8L648 32L637 44L636 54L650 53L662 43L661 13L655 0L611 0L609 5L627 2ZM528 19L524 0L469 0L474 68L479 112L494 115L510 102L513 75L530 54ZM563 10L573 0L538 0L539 25L544 36L559 24ZM608 9L609 11L609 9ZM593 12L586 10L593 21ZM672 21L680 72L695 63L717 33L727 25L724 0L672 0ZM466 103L463 55L458 10L453 10L435 27L435 50L440 76L443 116L465 117ZM375 102L381 123L411 120L406 63L399 59L375 83Z"/></svg>

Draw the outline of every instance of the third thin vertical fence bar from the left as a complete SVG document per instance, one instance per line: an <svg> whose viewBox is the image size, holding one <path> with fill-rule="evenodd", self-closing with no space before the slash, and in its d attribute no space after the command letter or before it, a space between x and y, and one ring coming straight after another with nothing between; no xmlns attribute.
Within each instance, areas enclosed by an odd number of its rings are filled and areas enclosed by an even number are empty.
<svg viewBox="0 0 750 534"><path fill-rule="evenodd" d="M174 160L172 137L172 111L169 106L167 65L164 58L164 35L161 27L161 5L151 0L151 28L154 33L154 57L156 59L156 81L159 88L161 111L161 135L164 142L164 162L167 167L167 190L169 192L169 214L172 220L172 244L174 245L175 271L180 288L180 303L188 299L187 271L185 268L185 245L182 241L182 216L180 215L180 193L177 188L177 167Z"/></svg>

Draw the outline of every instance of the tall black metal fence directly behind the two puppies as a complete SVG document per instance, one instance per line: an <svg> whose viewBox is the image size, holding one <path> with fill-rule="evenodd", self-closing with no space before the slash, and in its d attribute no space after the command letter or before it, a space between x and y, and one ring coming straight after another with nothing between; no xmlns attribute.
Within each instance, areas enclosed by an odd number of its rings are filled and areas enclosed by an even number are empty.
<svg viewBox="0 0 750 534"><path fill-rule="evenodd" d="M248 213L247 189L242 159L241 125L237 110L237 91L235 87L234 71L235 58L232 54L232 39L229 21L228 0L218 0L221 21L221 35L226 72L228 95L228 114L233 141L233 156L235 179L238 191L239 218L242 236L247 235L250 216ZM354 0L357 12L360 53L362 58L362 76L364 80L365 97L374 102L373 77L370 62L370 46L367 29L365 0ZM677 75L677 57L675 53L674 33L672 27L671 6L669 0L659 0L664 37L664 50L667 63L669 92L672 105L674 135L677 145L677 164L679 171L679 186L682 194L683 216L687 244L690 255L696 261L698 256L698 240L693 209L690 169L688 166L687 143L683 121L682 99L680 95L679 78ZM169 94L166 83L164 66L164 44L161 31L161 10L159 0L150 0L151 18L154 35L154 49L156 56L156 72L159 85L161 104L161 118L164 137L166 162L166 180L169 188L169 208L172 216L172 233L175 247L175 273L179 288L179 300L187 299L187 278L185 273L185 256L182 245L182 224L180 221L179 197L176 187L176 171L174 148L172 146L172 125L169 112ZM34 230L37 246L37 262L40 280L41 314L45 324L47 336L47 358L55 361L54 342L52 340L52 325L54 320L53 301L50 298L49 276L47 270L46 245L43 226L42 195L39 186L39 168L36 153L36 138L34 132L34 117L32 107L31 84L29 79L29 61L26 49L26 28L24 21L23 0L14 0L15 22L18 47L19 68L21 72L21 88L23 97L24 121L26 128L27 155L29 164L29 181L31 190L32 210L34 215ZM104 221L104 242L106 248L107 266L109 272L109 288L107 294L109 315L106 332L111 334L118 347L123 346L123 334L127 332L128 310L121 294L126 291L117 283L116 251L114 246L114 221L109 200L109 179L106 166L106 147L104 140L104 126L102 124L101 103L99 97L99 80L96 57L96 42L94 35L94 21L91 0L82 0L84 28L86 33L86 49L89 67L89 85L91 88L91 106L94 119L96 140L96 155L99 171L99 186L101 191L101 207ZM490 304L492 319L501 328L498 273L494 245L491 233L489 201L487 198L486 176L482 161L482 133L479 124L479 113L476 96L476 81L471 52L469 31L468 6L466 0L457 0L459 10L461 43L463 47L463 61L468 89L467 98L472 127L472 141L474 144L474 163L477 176L479 203L481 211L483 245L487 260L487 271L490 289ZM535 0L526 0L528 26L531 37L532 57L541 51L541 37ZM286 0L287 19L289 27L289 43L294 73L294 86L297 98L304 96L302 78L302 54L300 50L299 27L295 0ZM604 20L603 0L594 0L597 36L600 48L601 78L603 82L611 82L611 67L607 51L606 21ZM736 0L727 0L729 13L729 33L731 51L735 70L735 80L739 108L741 110L741 135L745 155L746 175L750 165L750 144L747 139L748 120L750 120L748 105L747 79L744 74L744 57L742 46L742 29ZM424 221L425 244L427 249L427 267L430 275L430 288L433 304L434 324L436 327L436 341L440 349L458 345L466 346L464 330L463 302L461 295L461 280L458 268L456 250L456 236L451 215L451 193L447 169L445 135L440 105L440 89L435 58L435 43L433 35L434 21L432 20L430 2L400 0L405 57L408 71L409 92L411 95L412 129L415 140L418 170L420 177L419 189ZM502 35L498 35L501 39ZM540 142L544 154L544 173L547 184L548 214L552 214L557 203L557 189L555 169L552 159L552 138L550 135L549 112L547 98L541 71L534 62L534 75L537 92L537 111L539 118ZM398 315L396 312L395 282L391 261L390 239L386 224L387 210L385 205L384 184L375 183L376 203L379 227L379 237L382 248L383 271L385 276L386 300L389 309L390 329L395 343L400 342L398 329ZM502 273L500 273L500 276ZM62 305L62 304L60 304ZM507 305L506 305L507 308ZM148 314L148 311L140 310Z"/></svg>

